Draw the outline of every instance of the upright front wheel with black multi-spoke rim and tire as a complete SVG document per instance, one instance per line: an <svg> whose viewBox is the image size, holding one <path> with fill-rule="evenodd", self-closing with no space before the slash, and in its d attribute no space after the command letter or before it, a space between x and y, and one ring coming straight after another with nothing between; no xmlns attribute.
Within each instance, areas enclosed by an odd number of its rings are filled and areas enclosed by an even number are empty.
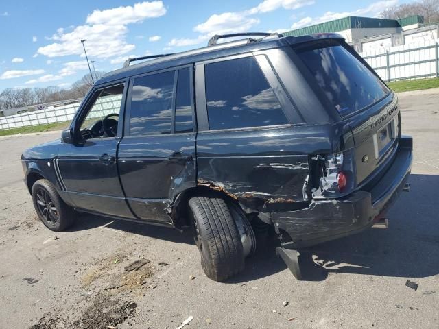
<svg viewBox="0 0 439 329"><path fill-rule="evenodd" d="M75 220L75 211L62 201L54 184L37 180L32 186L32 201L38 217L54 232L69 228Z"/></svg>

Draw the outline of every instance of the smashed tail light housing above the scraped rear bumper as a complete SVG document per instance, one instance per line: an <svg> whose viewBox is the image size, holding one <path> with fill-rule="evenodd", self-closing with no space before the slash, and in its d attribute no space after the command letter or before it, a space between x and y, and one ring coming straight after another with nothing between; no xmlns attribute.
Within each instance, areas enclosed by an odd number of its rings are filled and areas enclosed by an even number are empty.
<svg viewBox="0 0 439 329"><path fill-rule="evenodd" d="M353 191L353 151L351 149L336 154L311 156L313 176L311 195L313 199L333 199Z"/></svg>

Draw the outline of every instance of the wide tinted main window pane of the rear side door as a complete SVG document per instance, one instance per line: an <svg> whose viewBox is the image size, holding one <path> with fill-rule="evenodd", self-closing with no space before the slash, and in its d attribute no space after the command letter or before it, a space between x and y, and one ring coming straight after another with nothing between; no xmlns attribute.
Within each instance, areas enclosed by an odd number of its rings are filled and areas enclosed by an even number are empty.
<svg viewBox="0 0 439 329"><path fill-rule="evenodd" d="M134 79L131 95L130 134L171 132L172 90L175 71Z"/></svg>

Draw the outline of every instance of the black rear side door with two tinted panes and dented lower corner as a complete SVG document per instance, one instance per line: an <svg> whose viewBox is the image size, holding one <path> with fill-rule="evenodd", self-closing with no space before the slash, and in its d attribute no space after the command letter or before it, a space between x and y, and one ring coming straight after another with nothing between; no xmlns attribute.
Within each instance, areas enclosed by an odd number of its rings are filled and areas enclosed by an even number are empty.
<svg viewBox="0 0 439 329"><path fill-rule="evenodd" d="M170 224L167 205L195 186L193 66L132 77L117 164L140 219Z"/></svg>

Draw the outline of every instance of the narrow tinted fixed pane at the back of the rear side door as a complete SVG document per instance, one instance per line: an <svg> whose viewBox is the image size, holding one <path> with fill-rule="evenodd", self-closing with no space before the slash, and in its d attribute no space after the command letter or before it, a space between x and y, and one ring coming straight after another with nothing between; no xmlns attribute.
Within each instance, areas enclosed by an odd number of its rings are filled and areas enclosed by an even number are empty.
<svg viewBox="0 0 439 329"><path fill-rule="evenodd" d="M189 67L178 70L175 132L193 132Z"/></svg>

